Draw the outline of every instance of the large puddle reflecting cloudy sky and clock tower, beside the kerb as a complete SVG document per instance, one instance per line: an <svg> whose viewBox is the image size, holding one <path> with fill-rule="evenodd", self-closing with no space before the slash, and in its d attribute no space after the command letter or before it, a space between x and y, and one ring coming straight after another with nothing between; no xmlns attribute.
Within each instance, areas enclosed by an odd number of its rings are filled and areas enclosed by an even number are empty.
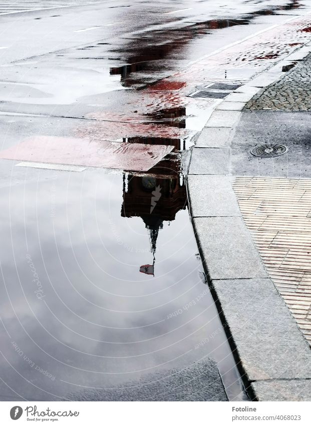
<svg viewBox="0 0 311 426"><path fill-rule="evenodd" d="M208 358L228 397L245 398L179 169L14 171L22 183L0 190L8 400L100 398Z"/></svg>

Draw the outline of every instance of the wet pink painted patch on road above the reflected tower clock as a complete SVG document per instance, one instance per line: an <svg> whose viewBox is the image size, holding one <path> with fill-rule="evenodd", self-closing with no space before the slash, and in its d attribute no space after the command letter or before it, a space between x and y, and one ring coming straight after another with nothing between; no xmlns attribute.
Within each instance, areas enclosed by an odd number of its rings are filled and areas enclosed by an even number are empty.
<svg viewBox="0 0 311 426"><path fill-rule="evenodd" d="M87 138L34 136L1 151L0 158L146 172L173 148Z"/></svg>

